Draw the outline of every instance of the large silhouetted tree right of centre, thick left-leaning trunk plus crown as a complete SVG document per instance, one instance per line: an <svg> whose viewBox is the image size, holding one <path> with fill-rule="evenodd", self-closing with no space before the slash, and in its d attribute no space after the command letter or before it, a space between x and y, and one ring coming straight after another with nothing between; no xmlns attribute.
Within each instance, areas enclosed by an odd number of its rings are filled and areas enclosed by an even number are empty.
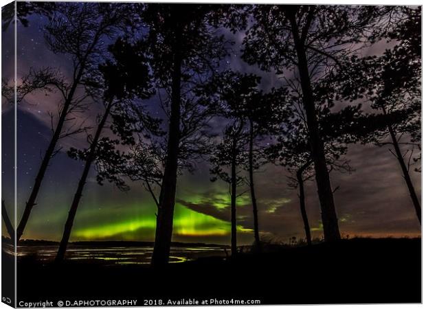
<svg viewBox="0 0 426 309"><path fill-rule="evenodd" d="M254 5L252 26L244 39L243 58L278 74L295 71L309 133L309 146L320 199L324 239L340 239L333 190L328 176L324 140L315 109L312 83L320 80L339 58L354 51L352 43L367 41L375 10L354 6ZM284 75L285 76L285 75Z"/></svg>

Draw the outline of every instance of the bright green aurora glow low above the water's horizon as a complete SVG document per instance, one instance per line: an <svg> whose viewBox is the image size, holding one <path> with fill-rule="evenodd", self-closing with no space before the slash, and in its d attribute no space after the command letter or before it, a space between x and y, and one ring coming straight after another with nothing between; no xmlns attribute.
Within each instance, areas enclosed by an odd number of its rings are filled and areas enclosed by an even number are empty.
<svg viewBox="0 0 426 309"><path fill-rule="evenodd" d="M184 201L190 203L210 203L218 211L227 214L230 196L223 184L213 184L217 190L209 198L203 190L179 194ZM93 188L96 190L90 190ZM100 191L104 194L100 194ZM219 192L223 192L219 193ZM45 195L41 198L42 207L35 209L29 225L24 233L27 239L59 240L66 220L67 205L58 205L56 201L67 201L70 196L58 187L56 194ZM249 196L238 197L238 207L249 205ZM20 201L19 205L24 203ZM19 209L19 212L21 209ZM155 238L157 207L148 194L139 190L123 193L110 185L87 186L87 192L78 208L71 241L85 240L131 240L153 241ZM3 229L2 229L3 230ZM238 234L251 241L252 229L242 225L237 227ZM229 242L231 224L223 218L215 218L208 214L192 210L181 203L175 205L173 238L176 241ZM3 235L7 235L3 231ZM244 241L246 242L246 241Z"/></svg>

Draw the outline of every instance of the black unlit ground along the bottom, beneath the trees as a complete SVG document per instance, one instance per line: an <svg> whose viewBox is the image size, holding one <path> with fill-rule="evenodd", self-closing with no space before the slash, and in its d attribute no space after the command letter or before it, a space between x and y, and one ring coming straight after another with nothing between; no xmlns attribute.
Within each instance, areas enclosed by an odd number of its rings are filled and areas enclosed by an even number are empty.
<svg viewBox="0 0 426 309"><path fill-rule="evenodd" d="M18 262L18 301L260 299L261 304L420 303L420 239L335 244L149 266Z"/></svg>

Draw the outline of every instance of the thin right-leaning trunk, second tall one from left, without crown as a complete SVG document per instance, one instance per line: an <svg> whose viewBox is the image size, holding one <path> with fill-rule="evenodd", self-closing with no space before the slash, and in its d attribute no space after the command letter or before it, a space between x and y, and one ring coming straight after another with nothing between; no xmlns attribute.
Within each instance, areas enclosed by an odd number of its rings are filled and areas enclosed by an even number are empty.
<svg viewBox="0 0 426 309"><path fill-rule="evenodd" d="M76 193L74 194L71 208L69 209L69 212L68 212L68 218L67 218L67 222L65 222L64 232L63 232L62 239L60 240L58 253L56 253L55 262L57 263L62 262L65 257L69 236L71 236L71 229L72 229L72 226L74 225L74 218L76 218L77 208L78 208L78 205L80 204L80 199L82 196L83 189L86 185L87 176L89 175L91 164L93 163L96 157L96 148L98 147L98 141L99 141L100 135L105 126L105 122L109 116L109 112L111 111L112 105L113 105L113 100L111 100L108 103L108 106L106 106L104 115L102 116L102 119L100 123L98 124L98 128L96 129L95 137L93 137L93 141L91 143L90 150L89 150L89 155L87 155L85 168L80 177L80 181L78 181L78 187L77 187Z"/></svg>

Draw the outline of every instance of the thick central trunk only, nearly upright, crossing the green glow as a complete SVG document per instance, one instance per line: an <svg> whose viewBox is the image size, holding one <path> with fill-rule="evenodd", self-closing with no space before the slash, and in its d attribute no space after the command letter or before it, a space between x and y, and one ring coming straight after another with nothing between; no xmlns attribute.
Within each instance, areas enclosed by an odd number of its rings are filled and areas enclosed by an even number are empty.
<svg viewBox="0 0 426 309"><path fill-rule="evenodd" d="M151 263L162 266L168 263L173 233L173 216L175 212L175 196L177 185L177 169L179 159L179 139L181 122L181 26L177 24L172 71L172 102L168 130L167 158L161 182L155 244Z"/></svg>

